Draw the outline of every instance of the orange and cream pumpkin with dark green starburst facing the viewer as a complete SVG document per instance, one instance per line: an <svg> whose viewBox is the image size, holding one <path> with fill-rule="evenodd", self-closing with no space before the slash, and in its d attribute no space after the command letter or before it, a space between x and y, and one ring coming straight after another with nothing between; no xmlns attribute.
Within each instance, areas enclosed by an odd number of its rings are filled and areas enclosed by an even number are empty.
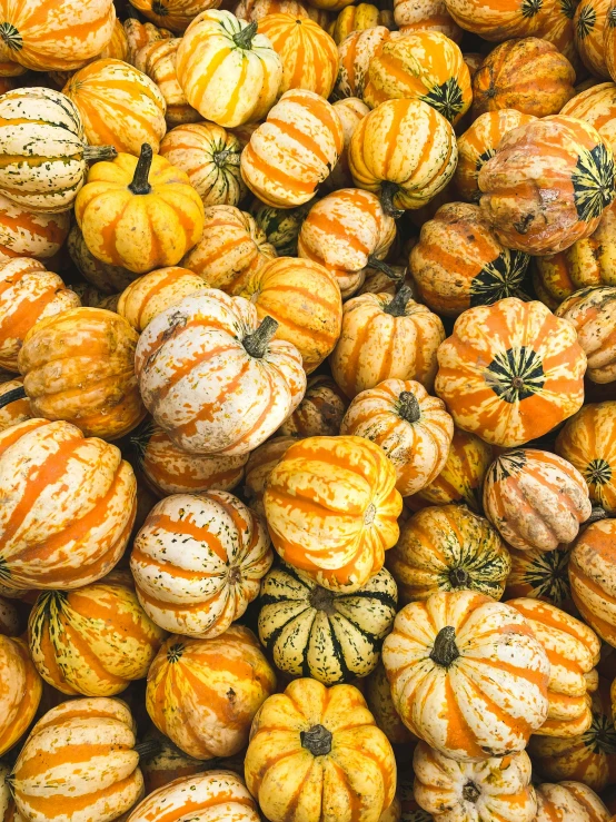
<svg viewBox="0 0 616 822"><path fill-rule="evenodd" d="M435 385L459 428L514 447L580 408L585 370L570 323L543 303L507 297L458 317L438 349Z"/></svg>

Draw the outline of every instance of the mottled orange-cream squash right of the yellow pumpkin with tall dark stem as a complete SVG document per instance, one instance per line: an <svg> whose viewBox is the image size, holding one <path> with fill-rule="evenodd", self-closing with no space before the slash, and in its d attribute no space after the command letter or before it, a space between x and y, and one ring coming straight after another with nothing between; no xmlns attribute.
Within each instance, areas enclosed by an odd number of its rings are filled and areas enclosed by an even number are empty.
<svg viewBox="0 0 616 822"><path fill-rule="evenodd" d="M272 257L275 248L249 214L234 206L208 206L203 235L182 265L210 288L238 294L250 274Z"/></svg>

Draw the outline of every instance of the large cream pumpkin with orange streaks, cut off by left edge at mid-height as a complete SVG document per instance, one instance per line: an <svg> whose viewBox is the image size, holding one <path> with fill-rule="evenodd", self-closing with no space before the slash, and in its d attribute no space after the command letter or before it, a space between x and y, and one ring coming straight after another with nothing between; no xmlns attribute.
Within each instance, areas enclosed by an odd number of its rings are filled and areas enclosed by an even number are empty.
<svg viewBox="0 0 616 822"><path fill-rule="evenodd" d="M64 422L0 432L0 587L78 588L116 565L136 514L132 468Z"/></svg>

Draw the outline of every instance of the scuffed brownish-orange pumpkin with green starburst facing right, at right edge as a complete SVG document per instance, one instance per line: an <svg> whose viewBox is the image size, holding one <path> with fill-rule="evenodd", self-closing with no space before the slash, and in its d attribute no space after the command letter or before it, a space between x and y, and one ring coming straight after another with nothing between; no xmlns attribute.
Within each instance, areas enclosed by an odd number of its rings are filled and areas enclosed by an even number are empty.
<svg viewBox="0 0 616 822"><path fill-rule="evenodd" d="M588 123L544 117L505 135L479 171L479 188L503 245L555 254L593 234L614 200L614 157Z"/></svg>

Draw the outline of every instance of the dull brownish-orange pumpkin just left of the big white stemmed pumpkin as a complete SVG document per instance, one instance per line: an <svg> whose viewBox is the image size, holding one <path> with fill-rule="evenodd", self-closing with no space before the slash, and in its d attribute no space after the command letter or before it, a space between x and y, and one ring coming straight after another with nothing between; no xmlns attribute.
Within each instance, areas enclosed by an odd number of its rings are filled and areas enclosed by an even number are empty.
<svg viewBox="0 0 616 822"><path fill-rule="evenodd" d="M103 308L39 320L19 353L32 413L74 423L86 436L128 434L146 415L133 369L137 339L126 319Z"/></svg>

